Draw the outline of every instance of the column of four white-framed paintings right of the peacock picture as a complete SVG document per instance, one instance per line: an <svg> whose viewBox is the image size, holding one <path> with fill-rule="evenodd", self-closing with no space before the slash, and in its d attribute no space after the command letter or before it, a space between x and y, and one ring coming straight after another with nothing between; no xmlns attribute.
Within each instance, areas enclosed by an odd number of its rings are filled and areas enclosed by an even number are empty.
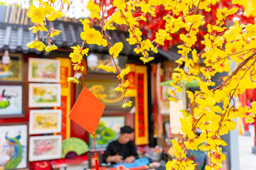
<svg viewBox="0 0 256 170"><path fill-rule="evenodd" d="M62 111L50 109L60 107L60 61L29 58L28 81L29 134L44 134L30 137L29 161L59 159L62 136L49 134L61 132Z"/></svg>

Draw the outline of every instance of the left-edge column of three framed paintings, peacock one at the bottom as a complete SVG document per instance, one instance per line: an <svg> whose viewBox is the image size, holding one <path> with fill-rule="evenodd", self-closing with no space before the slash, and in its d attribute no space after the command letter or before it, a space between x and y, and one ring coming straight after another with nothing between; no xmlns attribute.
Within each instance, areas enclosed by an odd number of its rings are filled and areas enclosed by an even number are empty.
<svg viewBox="0 0 256 170"><path fill-rule="evenodd" d="M26 117L23 56L0 53L0 169L28 168L28 123L11 123ZM8 118L9 120L4 120Z"/></svg>

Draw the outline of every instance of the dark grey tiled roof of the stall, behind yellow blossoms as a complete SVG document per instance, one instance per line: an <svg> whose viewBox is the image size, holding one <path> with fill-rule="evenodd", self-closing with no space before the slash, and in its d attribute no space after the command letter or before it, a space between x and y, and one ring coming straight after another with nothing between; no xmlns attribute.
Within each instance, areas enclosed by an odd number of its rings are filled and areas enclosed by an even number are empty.
<svg viewBox="0 0 256 170"><path fill-rule="evenodd" d="M9 52L34 52L36 54L42 54L35 49L30 49L26 47L27 42L31 42L35 39L36 34L32 33L32 30L28 30L30 26L21 26L11 23L0 23L0 51L9 50ZM49 27L49 26L46 26ZM74 45L82 45L82 39L80 38L80 33L82 32L81 23L68 23L63 21L54 21L53 28L56 30L61 30L62 33L51 38L53 41L52 44L57 45L59 48L70 48ZM96 30L100 30L99 27L94 27ZM46 32L39 32L39 40L46 35ZM137 56L134 52L134 47L136 45L129 45L126 41L126 38L129 38L129 33L121 30L108 30L107 35L111 37L110 42L114 44L115 42L123 42L124 48L120 55L133 55ZM45 40L45 44L47 42ZM85 47L89 47L90 52L102 52L108 53L108 48L98 45L88 45L85 44ZM159 54L154 54L156 57L166 57L168 60L175 61L180 55L178 55L177 50L171 49L169 51L164 51L159 49Z"/></svg>

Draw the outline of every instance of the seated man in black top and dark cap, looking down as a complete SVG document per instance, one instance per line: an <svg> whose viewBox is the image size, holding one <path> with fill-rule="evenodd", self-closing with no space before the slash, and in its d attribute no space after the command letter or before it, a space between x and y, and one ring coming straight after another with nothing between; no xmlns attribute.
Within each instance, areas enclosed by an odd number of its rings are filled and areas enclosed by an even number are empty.
<svg viewBox="0 0 256 170"><path fill-rule="evenodd" d="M124 126L120 129L120 135L118 140L111 142L104 154L102 155L102 162L112 164L132 163L135 159L138 159L137 148L130 140L132 138L132 128Z"/></svg>

